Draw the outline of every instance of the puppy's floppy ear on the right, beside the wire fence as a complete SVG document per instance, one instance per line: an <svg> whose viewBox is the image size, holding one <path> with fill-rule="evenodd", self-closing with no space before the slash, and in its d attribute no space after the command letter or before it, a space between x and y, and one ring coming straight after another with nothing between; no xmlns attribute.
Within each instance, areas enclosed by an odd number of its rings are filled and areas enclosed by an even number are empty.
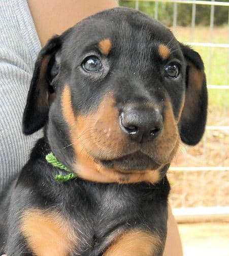
<svg viewBox="0 0 229 256"><path fill-rule="evenodd" d="M198 52L180 44L187 61L185 102L179 121L180 136L187 145L201 140L206 120L208 94L204 64Z"/></svg>

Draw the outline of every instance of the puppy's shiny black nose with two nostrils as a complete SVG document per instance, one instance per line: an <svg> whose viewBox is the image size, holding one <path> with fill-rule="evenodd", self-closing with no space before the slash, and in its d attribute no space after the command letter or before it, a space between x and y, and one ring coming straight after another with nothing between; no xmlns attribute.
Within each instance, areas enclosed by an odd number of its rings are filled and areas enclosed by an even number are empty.
<svg viewBox="0 0 229 256"><path fill-rule="evenodd" d="M158 109L129 108L120 115L120 126L131 139L145 142L159 135L163 118Z"/></svg>

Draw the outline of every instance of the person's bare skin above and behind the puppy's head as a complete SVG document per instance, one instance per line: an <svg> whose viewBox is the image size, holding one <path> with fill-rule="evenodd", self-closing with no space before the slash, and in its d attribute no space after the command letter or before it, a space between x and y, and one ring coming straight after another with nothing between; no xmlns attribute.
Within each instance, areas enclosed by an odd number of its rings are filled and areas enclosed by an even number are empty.
<svg viewBox="0 0 229 256"><path fill-rule="evenodd" d="M118 6L116 0L27 0L27 3L42 46L81 19Z"/></svg>

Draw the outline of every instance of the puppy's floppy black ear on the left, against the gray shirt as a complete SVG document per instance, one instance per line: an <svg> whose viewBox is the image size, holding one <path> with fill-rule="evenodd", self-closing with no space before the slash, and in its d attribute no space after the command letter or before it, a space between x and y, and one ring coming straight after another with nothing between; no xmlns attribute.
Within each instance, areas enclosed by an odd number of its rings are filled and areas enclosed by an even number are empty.
<svg viewBox="0 0 229 256"><path fill-rule="evenodd" d="M51 82L58 73L55 54L60 47L60 37L54 36L38 55L22 120L22 130L26 135L41 129L48 120L49 106L55 98Z"/></svg>

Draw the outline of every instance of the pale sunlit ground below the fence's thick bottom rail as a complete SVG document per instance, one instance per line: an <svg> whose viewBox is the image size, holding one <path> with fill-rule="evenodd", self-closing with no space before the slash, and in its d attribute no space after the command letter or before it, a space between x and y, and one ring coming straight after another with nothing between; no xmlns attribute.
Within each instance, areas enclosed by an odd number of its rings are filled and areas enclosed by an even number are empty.
<svg viewBox="0 0 229 256"><path fill-rule="evenodd" d="M229 256L229 222L189 223L178 227L184 256Z"/></svg>

